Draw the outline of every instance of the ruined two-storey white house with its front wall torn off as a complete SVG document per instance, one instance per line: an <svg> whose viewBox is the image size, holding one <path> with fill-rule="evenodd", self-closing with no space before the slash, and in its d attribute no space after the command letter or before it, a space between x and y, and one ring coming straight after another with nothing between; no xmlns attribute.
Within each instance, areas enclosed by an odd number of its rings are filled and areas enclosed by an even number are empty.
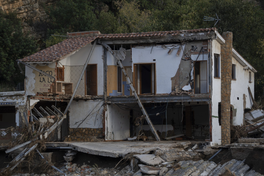
<svg viewBox="0 0 264 176"><path fill-rule="evenodd" d="M26 65L25 108L14 108L16 126L25 122L23 112L39 118L53 105L65 114L58 141L121 141L143 133L221 145L230 143L230 124L243 125L244 109L253 105L248 87L254 92L256 70L233 49L231 32L67 36L19 61Z"/></svg>

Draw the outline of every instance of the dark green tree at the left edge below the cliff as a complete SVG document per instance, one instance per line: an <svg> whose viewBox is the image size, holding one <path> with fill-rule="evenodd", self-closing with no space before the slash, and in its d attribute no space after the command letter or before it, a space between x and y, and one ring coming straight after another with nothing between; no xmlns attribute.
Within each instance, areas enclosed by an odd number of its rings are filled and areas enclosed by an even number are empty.
<svg viewBox="0 0 264 176"><path fill-rule="evenodd" d="M17 59L36 52L35 41L22 32L21 21L16 13L0 11L0 82L16 84L23 82Z"/></svg>

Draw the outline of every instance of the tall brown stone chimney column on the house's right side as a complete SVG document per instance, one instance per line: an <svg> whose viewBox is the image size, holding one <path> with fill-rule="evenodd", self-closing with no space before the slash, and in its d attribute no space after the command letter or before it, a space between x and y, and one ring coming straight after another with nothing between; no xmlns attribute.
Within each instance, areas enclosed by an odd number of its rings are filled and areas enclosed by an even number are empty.
<svg viewBox="0 0 264 176"><path fill-rule="evenodd" d="M224 32L221 44L221 142L230 144L230 94L232 79L232 32Z"/></svg>

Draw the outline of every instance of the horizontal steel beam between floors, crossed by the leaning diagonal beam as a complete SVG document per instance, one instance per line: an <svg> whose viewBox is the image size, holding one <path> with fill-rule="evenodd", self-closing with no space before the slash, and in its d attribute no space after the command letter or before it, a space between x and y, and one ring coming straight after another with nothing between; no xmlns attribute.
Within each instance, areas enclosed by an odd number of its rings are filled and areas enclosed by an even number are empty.
<svg viewBox="0 0 264 176"><path fill-rule="evenodd" d="M162 102L197 102L205 101L209 103L208 97L192 98L189 95L185 96L144 96L140 97L142 103L162 103ZM136 103L135 97L109 97L108 103Z"/></svg>

